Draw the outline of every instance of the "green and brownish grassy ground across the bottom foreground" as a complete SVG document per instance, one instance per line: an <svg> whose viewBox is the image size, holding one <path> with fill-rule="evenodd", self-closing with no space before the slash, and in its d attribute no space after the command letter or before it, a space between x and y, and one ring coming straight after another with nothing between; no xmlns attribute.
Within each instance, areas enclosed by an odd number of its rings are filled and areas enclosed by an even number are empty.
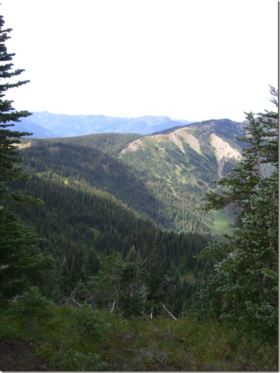
<svg viewBox="0 0 280 373"><path fill-rule="evenodd" d="M110 326L101 339L89 330L81 343L75 309L70 306L57 307L48 325L25 338L36 346L39 357L49 361L48 370L278 370L277 341L259 340L217 321L126 319L109 311L102 316ZM0 320L2 339L23 338L21 328L17 320L4 315Z"/></svg>

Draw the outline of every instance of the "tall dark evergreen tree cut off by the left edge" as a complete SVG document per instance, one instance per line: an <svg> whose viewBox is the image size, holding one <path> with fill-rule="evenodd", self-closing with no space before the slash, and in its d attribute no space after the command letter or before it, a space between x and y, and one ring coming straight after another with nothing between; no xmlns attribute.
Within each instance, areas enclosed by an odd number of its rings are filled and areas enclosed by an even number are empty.
<svg viewBox="0 0 280 373"><path fill-rule="evenodd" d="M20 164L24 159L18 156L16 144L19 144L22 136L30 134L12 131L11 128L14 126L13 121L20 121L20 117L26 117L30 113L16 111L12 107L13 101L5 99L7 90L20 87L28 80L11 83L3 81L24 71L12 70L13 64L9 61L15 54L8 53L5 46L12 29L4 29L4 23L3 16L0 16L0 297L7 299L27 289L32 281L39 281L39 272L46 263L34 233L21 225L18 216L11 210L12 202L22 205L28 201L34 204L41 201L23 196L20 191L11 191L7 186L8 182L28 179L27 175L21 175Z"/></svg>

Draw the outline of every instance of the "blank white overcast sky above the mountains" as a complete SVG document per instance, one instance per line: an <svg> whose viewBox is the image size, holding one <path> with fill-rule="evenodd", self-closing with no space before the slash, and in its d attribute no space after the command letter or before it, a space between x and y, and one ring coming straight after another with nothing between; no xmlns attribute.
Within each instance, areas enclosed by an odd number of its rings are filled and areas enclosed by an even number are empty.
<svg viewBox="0 0 280 373"><path fill-rule="evenodd" d="M186 120L275 110L277 0L1 0L16 110Z"/></svg>

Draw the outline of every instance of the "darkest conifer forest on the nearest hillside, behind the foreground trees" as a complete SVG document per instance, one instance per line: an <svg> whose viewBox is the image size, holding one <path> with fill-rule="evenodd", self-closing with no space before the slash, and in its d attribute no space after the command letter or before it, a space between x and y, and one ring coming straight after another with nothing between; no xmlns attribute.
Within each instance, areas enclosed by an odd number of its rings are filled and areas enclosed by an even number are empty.
<svg viewBox="0 0 280 373"><path fill-rule="evenodd" d="M26 183L26 191L42 198L44 204L18 212L46 238L41 243L45 253L60 262L66 258L71 282L85 282L88 275L96 275L102 257L113 251L124 260L134 245L143 260L150 256L158 228L109 193L92 189L83 180L69 178L65 184L55 175L34 175ZM162 271L169 277L183 268L194 270L193 255L210 240L210 236L191 233L160 234Z"/></svg>

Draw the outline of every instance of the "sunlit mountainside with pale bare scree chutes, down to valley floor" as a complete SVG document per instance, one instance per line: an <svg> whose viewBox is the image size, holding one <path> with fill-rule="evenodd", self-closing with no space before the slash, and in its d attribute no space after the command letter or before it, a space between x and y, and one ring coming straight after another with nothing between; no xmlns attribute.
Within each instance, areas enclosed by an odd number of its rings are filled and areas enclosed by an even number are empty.
<svg viewBox="0 0 280 373"><path fill-rule="evenodd" d="M222 129L224 123L226 131ZM163 206L164 200L170 201L173 212L165 208L165 214L172 215L172 229L195 230L198 222L200 227L212 225L212 218L200 215L197 209L206 191L214 187L212 181L226 174L241 157L239 144L232 139L232 130L240 131L238 125L227 120L202 126L196 123L192 128L139 138L120 152L123 162L149 175L146 184L150 189L161 190Z"/></svg>

